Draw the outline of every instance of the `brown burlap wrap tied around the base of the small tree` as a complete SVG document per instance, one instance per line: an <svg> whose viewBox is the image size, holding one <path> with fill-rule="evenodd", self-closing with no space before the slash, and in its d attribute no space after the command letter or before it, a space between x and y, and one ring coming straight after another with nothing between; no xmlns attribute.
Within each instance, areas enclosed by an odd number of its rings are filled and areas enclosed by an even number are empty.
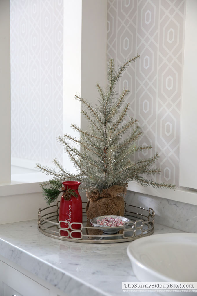
<svg viewBox="0 0 197 296"><path fill-rule="evenodd" d="M114 185L108 189L86 192L88 203L86 215L88 219L102 215L124 215L124 194L127 192L128 184L124 186Z"/></svg>

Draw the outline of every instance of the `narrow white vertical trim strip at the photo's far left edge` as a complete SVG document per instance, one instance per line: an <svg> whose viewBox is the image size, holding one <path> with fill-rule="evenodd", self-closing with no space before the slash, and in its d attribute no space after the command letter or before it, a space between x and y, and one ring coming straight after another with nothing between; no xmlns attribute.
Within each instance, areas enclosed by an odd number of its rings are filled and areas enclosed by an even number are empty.
<svg viewBox="0 0 197 296"><path fill-rule="evenodd" d="M0 184L10 182L10 12L0 1Z"/></svg>

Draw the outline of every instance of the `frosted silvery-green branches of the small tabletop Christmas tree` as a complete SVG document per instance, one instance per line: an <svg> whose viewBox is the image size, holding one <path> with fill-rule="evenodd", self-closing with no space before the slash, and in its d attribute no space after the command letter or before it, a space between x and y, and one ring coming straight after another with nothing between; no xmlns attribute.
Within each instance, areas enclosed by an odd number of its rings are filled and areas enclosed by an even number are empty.
<svg viewBox="0 0 197 296"><path fill-rule="evenodd" d="M102 192L109 193L110 188L125 186L132 180L144 186L175 189L175 185L158 183L144 177L160 173L159 168L152 168L159 155L156 153L148 159L133 160L135 152L152 147L136 144L142 134L138 120L130 117L126 123L123 123L129 110L129 104L125 103L128 89L123 89L121 95L116 98L116 86L123 72L139 57L137 55L126 60L118 71L115 70L114 60L109 60L106 91L99 84L96 85L100 94L96 108L92 107L86 99L75 96L86 107L82 110L82 114L89 120L90 130L83 130L73 123L72 128L80 133L80 138L69 134L58 137L58 141L64 145L65 152L73 162L76 173L67 171L56 159L54 164L57 170L37 164L42 172L53 176L53 179L42 185L48 204L57 199L62 181L80 181L82 190L97 192L101 197ZM122 139L123 134L128 134L129 131L131 131L130 134ZM81 149L77 149L76 145Z"/></svg>

